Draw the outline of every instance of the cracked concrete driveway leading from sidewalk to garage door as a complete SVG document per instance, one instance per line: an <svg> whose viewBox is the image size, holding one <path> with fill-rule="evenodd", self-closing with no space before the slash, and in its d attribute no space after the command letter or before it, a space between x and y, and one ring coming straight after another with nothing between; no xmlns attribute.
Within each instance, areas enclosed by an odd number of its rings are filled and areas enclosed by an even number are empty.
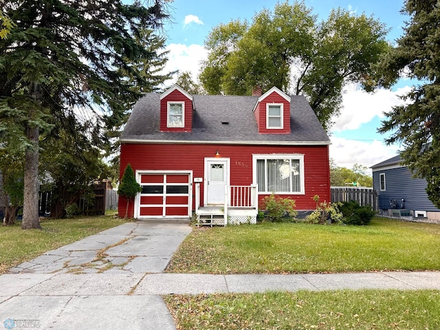
<svg viewBox="0 0 440 330"><path fill-rule="evenodd" d="M187 223L187 222L186 222ZM177 223L182 224L182 223ZM164 224L125 223L12 267L10 274L136 274L164 272L190 227L168 230Z"/></svg>

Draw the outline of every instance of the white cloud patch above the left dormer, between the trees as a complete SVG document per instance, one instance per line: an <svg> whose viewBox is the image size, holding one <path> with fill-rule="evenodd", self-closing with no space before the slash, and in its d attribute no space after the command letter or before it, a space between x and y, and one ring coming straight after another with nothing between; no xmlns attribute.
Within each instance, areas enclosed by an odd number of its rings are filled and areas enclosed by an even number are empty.
<svg viewBox="0 0 440 330"><path fill-rule="evenodd" d="M197 81L200 72L200 63L206 59L208 52L202 45L183 45L181 43L172 43L166 46L169 50L168 61L165 65L164 72L189 71L192 74L192 80ZM173 81L168 80L167 85L173 85Z"/></svg>

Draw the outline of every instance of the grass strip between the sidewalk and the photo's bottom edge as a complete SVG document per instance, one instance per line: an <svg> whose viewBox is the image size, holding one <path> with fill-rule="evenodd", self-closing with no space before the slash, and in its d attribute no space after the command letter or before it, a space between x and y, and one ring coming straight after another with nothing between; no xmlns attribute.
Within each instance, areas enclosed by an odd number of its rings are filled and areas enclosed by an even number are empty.
<svg viewBox="0 0 440 330"><path fill-rule="evenodd" d="M165 296L177 329L440 329L435 290Z"/></svg>

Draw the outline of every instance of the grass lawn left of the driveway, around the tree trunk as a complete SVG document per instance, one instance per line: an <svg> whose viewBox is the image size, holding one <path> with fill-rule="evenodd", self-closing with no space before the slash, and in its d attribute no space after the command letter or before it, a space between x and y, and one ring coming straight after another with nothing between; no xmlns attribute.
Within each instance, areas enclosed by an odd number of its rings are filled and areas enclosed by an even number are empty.
<svg viewBox="0 0 440 330"><path fill-rule="evenodd" d="M0 226L0 274L49 250L125 223L112 216L41 221L42 230L22 230L21 222Z"/></svg>

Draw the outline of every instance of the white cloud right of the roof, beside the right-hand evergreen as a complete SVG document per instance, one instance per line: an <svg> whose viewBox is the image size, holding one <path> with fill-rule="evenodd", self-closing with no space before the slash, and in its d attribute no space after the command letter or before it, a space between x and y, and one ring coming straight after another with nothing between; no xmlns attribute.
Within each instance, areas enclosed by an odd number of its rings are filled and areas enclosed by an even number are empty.
<svg viewBox="0 0 440 330"><path fill-rule="evenodd" d="M403 104L399 96L410 91L406 86L397 91L379 89L374 94L366 93L354 86L349 86L342 96L342 109L338 118L333 118L333 131L359 129L362 124L371 122L375 116L384 118L384 112Z"/></svg>

